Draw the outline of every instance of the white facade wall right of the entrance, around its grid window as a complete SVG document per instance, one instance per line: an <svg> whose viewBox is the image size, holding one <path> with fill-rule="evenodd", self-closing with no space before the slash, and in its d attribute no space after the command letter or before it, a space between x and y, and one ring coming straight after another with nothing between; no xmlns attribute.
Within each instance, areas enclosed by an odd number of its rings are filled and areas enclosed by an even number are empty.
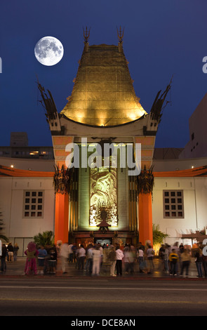
<svg viewBox="0 0 207 330"><path fill-rule="evenodd" d="M164 218L163 190L183 190L184 218ZM182 234L203 230L207 225L206 215L207 178L155 178L152 219L162 232L169 235L166 238L168 244L182 242Z"/></svg>

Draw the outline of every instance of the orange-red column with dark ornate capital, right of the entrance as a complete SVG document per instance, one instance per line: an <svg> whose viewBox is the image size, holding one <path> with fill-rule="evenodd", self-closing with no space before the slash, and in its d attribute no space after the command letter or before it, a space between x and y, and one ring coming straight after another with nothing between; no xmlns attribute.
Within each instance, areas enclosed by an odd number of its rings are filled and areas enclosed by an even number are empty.
<svg viewBox="0 0 207 330"><path fill-rule="evenodd" d="M146 241L153 244L152 232L152 190L154 186L154 176L152 167L147 171L146 166L137 176L138 190L138 223L139 242L145 245Z"/></svg>

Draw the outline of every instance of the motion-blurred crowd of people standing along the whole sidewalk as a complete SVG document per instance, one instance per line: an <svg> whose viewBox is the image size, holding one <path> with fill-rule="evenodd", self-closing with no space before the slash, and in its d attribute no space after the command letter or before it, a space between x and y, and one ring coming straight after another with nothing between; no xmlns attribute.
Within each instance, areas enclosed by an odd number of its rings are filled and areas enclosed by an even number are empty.
<svg viewBox="0 0 207 330"><path fill-rule="evenodd" d="M6 271L8 262L17 258L18 245L2 244L1 272ZM61 263L62 274L67 273L67 265L74 264L77 270L83 270L88 275L100 275L103 263L109 265L110 276L134 274L135 272L152 274L155 270L154 259L159 258L159 270L171 276L189 276L189 266L196 264L198 277L207 277L207 256L203 254L203 246L196 246L194 253L183 244L175 242L173 246L162 244L158 255L150 244L139 243L138 246L104 244L52 244L51 246L36 246L29 242L25 251L25 275L33 272L34 275L55 274L57 263ZM58 261L59 260L59 261ZM157 259L156 259L157 260ZM157 267L157 263L156 263Z"/></svg>

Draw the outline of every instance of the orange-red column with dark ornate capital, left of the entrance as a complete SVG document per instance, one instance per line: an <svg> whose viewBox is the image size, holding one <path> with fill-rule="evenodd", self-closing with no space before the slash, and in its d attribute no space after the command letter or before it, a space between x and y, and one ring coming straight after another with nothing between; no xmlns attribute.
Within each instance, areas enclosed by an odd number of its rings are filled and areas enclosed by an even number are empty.
<svg viewBox="0 0 207 330"><path fill-rule="evenodd" d="M69 192L72 183L72 171L62 165L55 168L53 185L55 187L55 244L60 240L68 242L69 232Z"/></svg>

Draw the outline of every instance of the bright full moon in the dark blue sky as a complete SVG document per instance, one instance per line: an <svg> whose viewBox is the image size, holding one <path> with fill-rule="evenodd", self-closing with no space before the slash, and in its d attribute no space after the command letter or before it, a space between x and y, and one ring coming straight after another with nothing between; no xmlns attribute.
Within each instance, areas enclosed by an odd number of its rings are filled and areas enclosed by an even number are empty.
<svg viewBox="0 0 207 330"><path fill-rule="evenodd" d="M47 66L55 65L60 62L63 53L63 46L55 37L41 38L34 47L36 60Z"/></svg>

